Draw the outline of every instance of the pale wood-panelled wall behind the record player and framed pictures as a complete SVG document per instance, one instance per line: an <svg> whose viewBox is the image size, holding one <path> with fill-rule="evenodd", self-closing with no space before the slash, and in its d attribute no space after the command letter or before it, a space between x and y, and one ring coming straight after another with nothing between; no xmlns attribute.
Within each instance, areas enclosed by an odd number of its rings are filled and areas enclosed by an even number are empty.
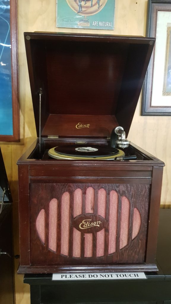
<svg viewBox="0 0 171 304"><path fill-rule="evenodd" d="M112 1L112 0L108 0ZM18 173L16 162L23 152L36 138L36 130L31 101L30 84L27 71L23 32L83 32L116 35L145 36L147 0L116 0L115 29L81 30L57 29L55 0L18 0L18 50L19 50L19 100L20 100L20 143L1 142L2 154L12 190L14 253L19 254L18 241ZM163 160L166 164L162 185L162 205L171 204L171 117L140 116L140 101L138 102L131 129L128 135L133 143ZM18 260L15 261L16 304L29 304L29 286L23 284L23 276L17 275Z"/></svg>

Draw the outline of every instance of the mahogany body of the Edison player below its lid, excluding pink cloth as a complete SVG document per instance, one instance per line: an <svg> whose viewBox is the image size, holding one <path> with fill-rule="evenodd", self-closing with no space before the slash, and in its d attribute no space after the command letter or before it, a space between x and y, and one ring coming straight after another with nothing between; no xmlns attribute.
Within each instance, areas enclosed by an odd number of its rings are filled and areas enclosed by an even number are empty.
<svg viewBox="0 0 171 304"><path fill-rule="evenodd" d="M65 139L58 139L56 142L58 143L65 142ZM71 139L72 141L72 139ZM53 140L51 139L42 139L42 144L47 146L48 142L50 145L53 144ZM55 141L54 141L55 142ZM55 142L55 143L56 143ZM159 161L152 155L146 153L144 150L138 150L138 147L135 145L131 145L130 153L137 153L141 155L140 160L138 161L130 161L130 162L114 162L114 161L63 161L63 160L44 160L44 159L33 159L26 158L30 155L32 157L34 154L36 155L38 145L36 143L33 144L32 148L26 152L26 154L19 160L19 167L22 166L27 167L27 183L30 183L30 202L27 201L27 204L30 204L30 228L28 226L27 233L29 233L30 229L30 266L28 264L21 264L21 268L19 268L19 272L23 271L23 266L29 266L30 272L38 271L36 267L40 267L44 265L44 272L50 272L50 269L56 269L55 271L59 271L59 269L67 269L67 265L70 264L72 271L75 269L75 264L79 267L80 263L84 265L86 261L88 264L96 265L96 269L99 269L98 266L100 264L105 264L109 266L113 264L111 267L114 270L115 267L117 269L117 264L124 263L147 263L147 256L154 254L150 251L153 250L156 246L155 240L154 244L151 245L151 249L149 249L148 253L146 252L146 240L147 237L147 226L148 226L148 205L149 205L149 191L150 184L152 183L152 170L154 165L159 166L158 168L162 168L163 162ZM35 152L33 152L35 151ZM38 154L37 154L38 157ZM145 159L145 160L143 160ZM161 166L161 167L160 167ZM63 184L61 184L61 182ZM71 184L71 182L73 184ZM161 181L159 181L160 183ZM121 229L121 196L119 195L119 206L118 206L118 219L117 219L117 250L114 254L108 254L108 244L109 244L109 230L108 225L105 227L105 250L103 257L96 257L96 246L97 246L97 236L96 232L92 233L92 257L85 258L85 239L81 237L81 256L79 258L75 258L72 256L73 251L73 206L71 204L71 208L69 209L70 216L70 226L69 226L69 239L71 240L70 245L68 247L68 256L61 255L61 238L57 237L57 252L54 253L52 250L49 250L48 247L48 238L49 238L49 202L51 199L55 198L59 200L58 203L58 224L57 224L57 235L61 235L61 196L60 198L55 196L56 189L60 188L60 185L65 185L64 188L67 189L69 187L69 193L71 195L71 201L73 202L73 187L79 187L85 189L91 184L94 185L96 183L96 188L101 187L102 184L105 185L105 189L107 187L111 187L111 189L117 189L116 191L123 196L124 191L126 191L125 196L129 199L130 203L136 201L137 205L132 206L130 209L129 216L129 231L128 231L128 244L123 249L120 250L120 229ZM112 183L112 186L110 184ZM155 183L155 182L154 182ZM118 185L117 185L118 184ZM70 186L71 185L71 186ZM26 186L27 188L27 186ZM130 189L134 189L131 191ZM61 192L62 190L61 186ZM72 189L72 190L71 190ZM121 190L122 189L122 190ZM129 191L129 190L130 191ZM84 190L85 191L85 190ZM60 191L59 191L60 192ZM60 192L60 193L61 193ZM143 197L142 197L143 193ZM133 195L133 196L131 196ZM83 195L84 197L85 195ZM108 197L108 196L107 196ZM97 213L97 196L95 195L95 205L94 212ZM109 199L107 198L108 205ZM132 204L132 203L131 203ZM138 205L139 204L139 205ZM109 206L106 206L106 219L109 219ZM83 200L82 206L85 212L85 202ZM132 227L133 227L133 211L134 208L138 208L140 214L142 214L142 225L140 232L138 233L138 237L135 237L133 240L132 236ZM145 208L145 209L144 209ZM45 211L45 246L40 240L37 230L35 228L35 222L37 216L41 209ZM84 214L84 213L83 213ZM155 233L157 223L154 225L153 232ZM152 228L150 228L152 230ZM149 233L149 235L150 235ZM153 241L153 240L151 240ZM141 244L141 245L140 245ZM141 249L140 249L141 247ZM139 248L139 251L136 251L135 248ZM127 255L129 249L129 257ZM136 254L137 252L137 254ZM133 260L130 260L132 258ZM88 259L88 260L86 260ZM28 260L27 260L28 261ZM151 259L146 266L148 270L156 270L156 266L154 266L154 259ZM51 268L52 265L55 265L56 268ZM60 266L61 265L61 266ZM50 266L49 269L47 267ZM149 267L149 268L148 268ZM78 268L79 269L79 268ZM86 269L86 266L85 268ZM126 269L126 268L124 268ZM135 268L136 270L137 268ZM28 268L26 268L28 271Z"/></svg>

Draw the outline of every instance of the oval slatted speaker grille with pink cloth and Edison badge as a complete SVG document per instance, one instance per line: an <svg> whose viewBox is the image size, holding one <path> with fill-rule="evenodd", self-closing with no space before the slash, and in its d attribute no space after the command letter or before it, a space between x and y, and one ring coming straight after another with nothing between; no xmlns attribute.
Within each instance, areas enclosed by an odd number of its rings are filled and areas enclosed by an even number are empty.
<svg viewBox="0 0 171 304"><path fill-rule="evenodd" d="M80 187L57 193L56 197L47 203L47 210L42 208L36 217L37 234L45 246L48 239L47 250L70 258L100 258L114 254L117 247L123 250L140 233L140 211L118 190L109 191L106 185L98 189ZM93 223L93 216L100 216L106 223L100 231L93 230L101 224L100 220ZM82 231L73 226L77 217ZM86 233L87 223L90 228L92 225L92 233ZM45 235L47 224L48 238Z"/></svg>

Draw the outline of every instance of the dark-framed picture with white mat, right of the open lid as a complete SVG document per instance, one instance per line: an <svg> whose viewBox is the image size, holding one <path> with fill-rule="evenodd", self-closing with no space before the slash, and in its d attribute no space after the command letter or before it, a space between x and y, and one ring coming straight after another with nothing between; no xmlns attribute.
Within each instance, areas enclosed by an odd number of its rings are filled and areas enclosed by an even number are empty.
<svg viewBox="0 0 171 304"><path fill-rule="evenodd" d="M171 115L171 0L148 0L147 37L155 48L146 74L141 115Z"/></svg>

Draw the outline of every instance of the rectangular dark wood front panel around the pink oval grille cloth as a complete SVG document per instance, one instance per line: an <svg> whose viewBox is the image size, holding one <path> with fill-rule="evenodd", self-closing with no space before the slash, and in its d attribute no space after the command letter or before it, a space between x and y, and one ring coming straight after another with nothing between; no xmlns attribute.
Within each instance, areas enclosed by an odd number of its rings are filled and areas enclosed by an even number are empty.
<svg viewBox="0 0 171 304"><path fill-rule="evenodd" d="M95 189L105 189L106 195L109 195L111 190L115 190L120 197L126 196L130 201L130 216L129 216L129 234L128 244L122 250L117 247L116 252L113 254L106 253L102 257L75 258L72 256L58 255L56 252L47 250L46 240L45 246L40 240L36 230L36 220L39 212L44 209L46 214L45 219L45 231L46 237L48 237L48 214L49 214L49 202L51 199L58 200L58 206L61 208L61 197L65 192L69 192L73 195L73 192L80 188L83 193L89 187ZM146 233L147 233L147 221L148 221L148 199L149 199L149 185L113 185L113 184L31 184L30 185L30 254L31 254L31 265L46 264L46 265L59 265L59 264L99 264L99 263L143 263L145 262L145 244L146 244ZM96 202L96 199L95 199ZM70 200L71 212L73 208L72 196ZM108 201L109 204L109 201ZM107 206L108 207L108 206ZM121 201L119 203L119 210L121 208ZM132 240L132 229L133 229L133 211L134 208L138 208L141 214L141 228L138 236ZM58 212L58 222L61 224L61 211ZM73 214L73 213L72 213ZM84 214L86 216L86 213ZM108 219L108 213L106 214ZM118 212L118 223L120 223L120 212ZM70 227L73 225L72 219L70 219ZM71 231L70 231L71 232ZM108 234L108 229L106 230ZM96 233L94 235L93 248L96 250ZM108 236L107 236L108 237ZM60 237L59 237L60 238ZM72 246L72 233L70 234L69 246ZM118 244L119 245L119 244ZM58 243L59 246L59 243ZM86 262L87 261L87 262Z"/></svg>

